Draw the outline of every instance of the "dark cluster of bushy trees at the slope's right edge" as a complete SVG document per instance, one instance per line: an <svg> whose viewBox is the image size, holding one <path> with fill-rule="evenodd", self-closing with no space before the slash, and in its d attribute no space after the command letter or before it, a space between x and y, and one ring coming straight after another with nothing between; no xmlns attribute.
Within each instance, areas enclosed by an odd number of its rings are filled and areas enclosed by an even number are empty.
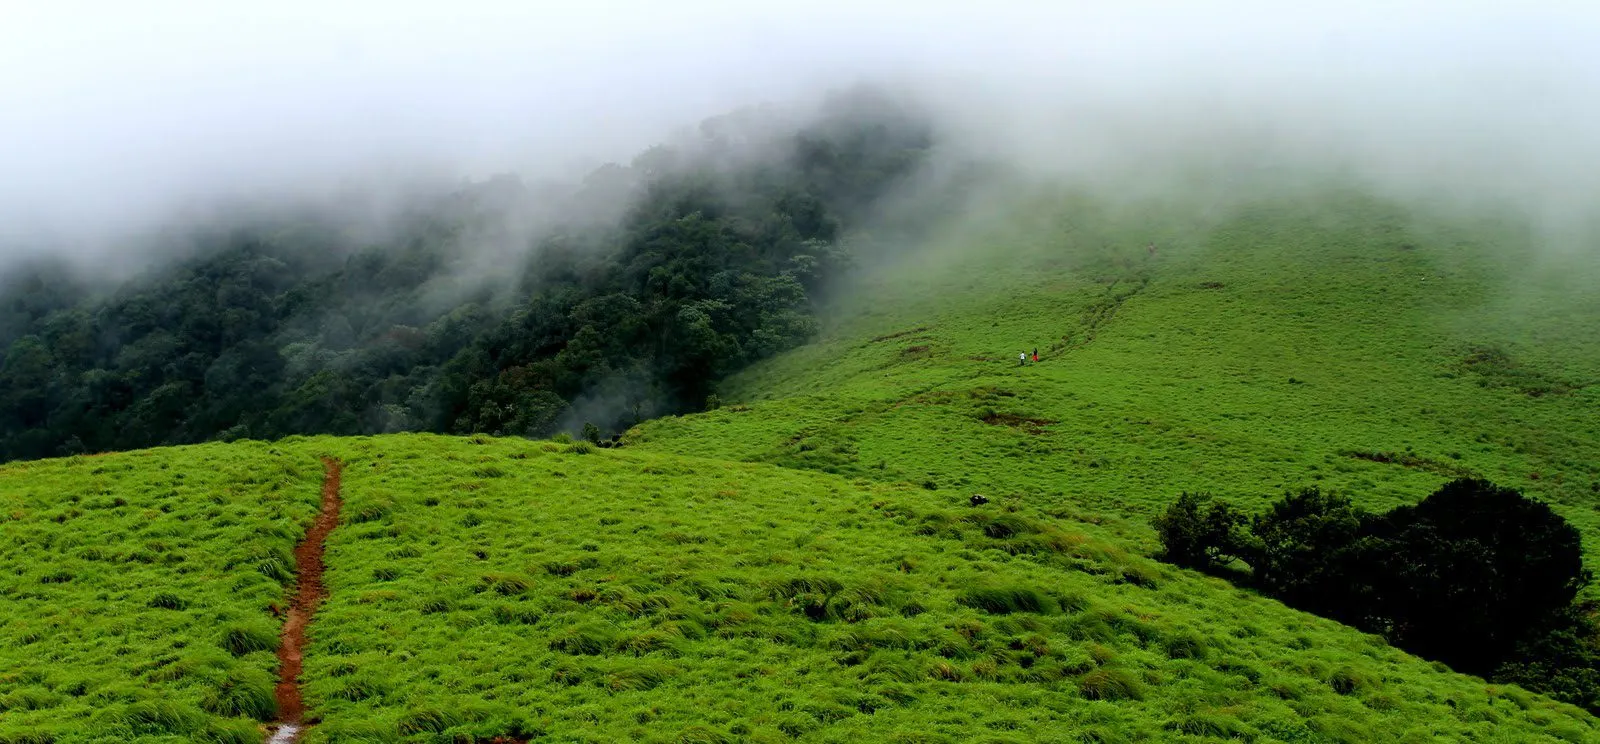
<svg viewBox="0 0 1600 744"><path fill-rule="evenodd" d="M1600 627L1576 603L1590 581L1578 530L1515 490L1462 478L1371 514L1309 488L1254 517L1184 493L1155 528L1171 563L1243 563L1246 581L1291 606L1600 710Z"/></svg>

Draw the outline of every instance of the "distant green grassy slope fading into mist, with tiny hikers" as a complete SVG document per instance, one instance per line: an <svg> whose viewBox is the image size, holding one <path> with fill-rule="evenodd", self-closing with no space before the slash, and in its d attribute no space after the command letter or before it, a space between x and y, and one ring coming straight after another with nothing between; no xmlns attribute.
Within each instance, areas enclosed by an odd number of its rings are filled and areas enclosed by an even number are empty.
<svg viewBox="0 0 1600 744"><path fill-rule="evenodd" d="M1381 510L1480 474L1557 504L1600 558L1594 262L1339 192L1210 222L1082 200L1008 218L877 272L818 344L632 443L1074 504L1130 534L1182 490Z"/></svg>

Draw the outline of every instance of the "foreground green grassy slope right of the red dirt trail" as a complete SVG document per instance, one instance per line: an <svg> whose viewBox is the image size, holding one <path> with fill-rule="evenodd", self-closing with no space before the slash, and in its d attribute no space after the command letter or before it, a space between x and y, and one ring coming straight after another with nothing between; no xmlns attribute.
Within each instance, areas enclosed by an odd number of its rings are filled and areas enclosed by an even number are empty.
<svg viewBox="0 0 1600 744"><path fill-rule="evenodd" d="M314 742L1589 741L1021 499L547 442L347 461Z"/></svg>

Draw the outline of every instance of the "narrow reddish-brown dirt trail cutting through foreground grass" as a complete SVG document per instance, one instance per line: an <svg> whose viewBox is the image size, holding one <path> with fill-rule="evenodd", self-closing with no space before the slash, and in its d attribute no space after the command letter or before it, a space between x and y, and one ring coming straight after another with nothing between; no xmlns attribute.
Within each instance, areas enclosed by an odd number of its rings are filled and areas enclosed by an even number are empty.
<svg viewBox="0 0 1600 744"><path fill-rule="evenodd" d="M317 605L328 595L322 586L322 547L328 533L339 525L339 477L344 474L344 462L323 458L325 475L322 482L322 512L306 531L306 539L294 546L294 597L290 600L290 618L283 622L283 643L278 646L278 686L274 694L278 699L278 726L272 742L290 742L304 728L301 717L306 706L299 694L301 651L306 648L306 627L310 626Z"/></svg>

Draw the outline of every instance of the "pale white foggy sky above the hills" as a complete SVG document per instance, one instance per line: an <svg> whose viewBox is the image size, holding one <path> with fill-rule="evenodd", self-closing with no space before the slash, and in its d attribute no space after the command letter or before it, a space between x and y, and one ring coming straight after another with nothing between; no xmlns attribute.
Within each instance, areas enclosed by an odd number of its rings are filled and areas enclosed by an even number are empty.
<svg viewBox="0 0 1600 744"><path fill-rule="evenodd" d="M0 253L242 186L626 160L861 77L1022 157L1229 120L1400 178L1597 184L1595 2L0 0Z"/></svg>

